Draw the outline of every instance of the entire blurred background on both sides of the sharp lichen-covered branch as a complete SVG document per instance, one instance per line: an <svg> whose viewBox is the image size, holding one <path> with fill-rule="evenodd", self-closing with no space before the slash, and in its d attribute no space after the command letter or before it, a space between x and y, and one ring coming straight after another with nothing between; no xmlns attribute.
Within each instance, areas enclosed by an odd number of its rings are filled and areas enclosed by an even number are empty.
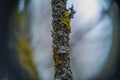
<svg viewBox="0 0 120 80"><path fill-rule="evenodd" d="M120 79L118 0L68 0L74 80ZM53 80L51 0L0 0L0 80Z"/></svg>

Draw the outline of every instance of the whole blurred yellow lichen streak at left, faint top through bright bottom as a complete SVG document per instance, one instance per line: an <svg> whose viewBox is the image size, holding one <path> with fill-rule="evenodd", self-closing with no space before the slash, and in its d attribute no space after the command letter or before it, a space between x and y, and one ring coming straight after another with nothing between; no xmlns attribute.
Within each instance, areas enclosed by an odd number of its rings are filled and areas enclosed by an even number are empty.
<svg viewBox="0 0 120 80"><path fill-rule="evenodd" d="M14 10L12 15L12 20L16 29L19 30L17 33L17 43L16 49L18 52L20 64L22 68L28 72L29 76L31 76L32 80L38 80L37 70L35 68L35 64L32 56L32 49L27 41L27 37L24 34L25 31L25 17L23 13L19 13L17 9Z"/></svg>

